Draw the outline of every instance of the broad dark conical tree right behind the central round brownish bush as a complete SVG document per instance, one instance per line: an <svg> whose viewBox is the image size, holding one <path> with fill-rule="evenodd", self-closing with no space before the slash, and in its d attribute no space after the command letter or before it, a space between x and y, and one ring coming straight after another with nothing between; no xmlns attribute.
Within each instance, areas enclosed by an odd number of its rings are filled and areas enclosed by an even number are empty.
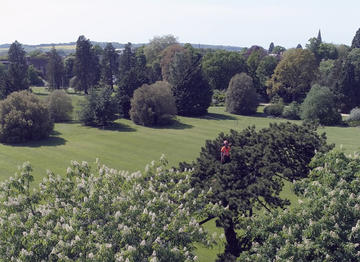
<svg viewBox="0 0 360 262"><path fill-rule="evenodd" d="M190 45L175 54L165 80L172 85L179 115L199 116L207 112L212 90L203 76L201 55Z"/></svg>

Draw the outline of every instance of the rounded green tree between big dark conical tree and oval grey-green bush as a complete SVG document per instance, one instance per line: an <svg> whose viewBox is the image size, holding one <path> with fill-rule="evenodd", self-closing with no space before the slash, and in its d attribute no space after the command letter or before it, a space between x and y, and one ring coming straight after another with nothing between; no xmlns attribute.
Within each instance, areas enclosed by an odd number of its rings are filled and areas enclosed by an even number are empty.
<svg viewBox="0 0 360 262"><path fill-rule="evenodd" d="M235 74L246 72L245 59L239 52L210 52L203 57L201 63L204 75L213 90L226 90Z"/></svg>

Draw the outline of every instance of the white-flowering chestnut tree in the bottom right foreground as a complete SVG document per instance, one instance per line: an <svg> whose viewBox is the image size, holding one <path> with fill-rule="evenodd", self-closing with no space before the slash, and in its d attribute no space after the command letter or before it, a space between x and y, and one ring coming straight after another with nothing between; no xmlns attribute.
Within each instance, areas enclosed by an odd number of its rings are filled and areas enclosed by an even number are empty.
<svg viewBox="0 0 360 262"><path fill-rule="evenodd" d="M299 206L242 220L253 243L239 261L359 260L359 157L331 152L311 165L295 183Z"/></svg>

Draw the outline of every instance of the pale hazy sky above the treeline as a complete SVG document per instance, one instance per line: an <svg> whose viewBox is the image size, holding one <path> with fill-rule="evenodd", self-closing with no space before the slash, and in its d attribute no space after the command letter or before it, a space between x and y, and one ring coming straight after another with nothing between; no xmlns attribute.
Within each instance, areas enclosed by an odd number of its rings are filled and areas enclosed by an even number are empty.
<svg viewBox="0 0 360 262"><path fill-rule="evenodd" d="M351 45L359 0L0 0L0 44L92 41L148 43L172 34L181 43L268 48L323 42Z"/></svg>

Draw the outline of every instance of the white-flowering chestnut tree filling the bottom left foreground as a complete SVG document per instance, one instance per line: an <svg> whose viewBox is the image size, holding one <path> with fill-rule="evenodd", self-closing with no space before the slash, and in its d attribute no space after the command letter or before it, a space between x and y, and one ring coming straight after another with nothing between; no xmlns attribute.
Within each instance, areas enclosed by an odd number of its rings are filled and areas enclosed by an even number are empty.
<svg viewBox="0 0 360 262"><path fill-rule="evenodd" d="M190 170L166 163L129 173L73 161L36 190L24 163L0 187L0 260L196 260L193 244L212 242L197 221L220 205L206 203L211 190L194 194Z"/></svg>

